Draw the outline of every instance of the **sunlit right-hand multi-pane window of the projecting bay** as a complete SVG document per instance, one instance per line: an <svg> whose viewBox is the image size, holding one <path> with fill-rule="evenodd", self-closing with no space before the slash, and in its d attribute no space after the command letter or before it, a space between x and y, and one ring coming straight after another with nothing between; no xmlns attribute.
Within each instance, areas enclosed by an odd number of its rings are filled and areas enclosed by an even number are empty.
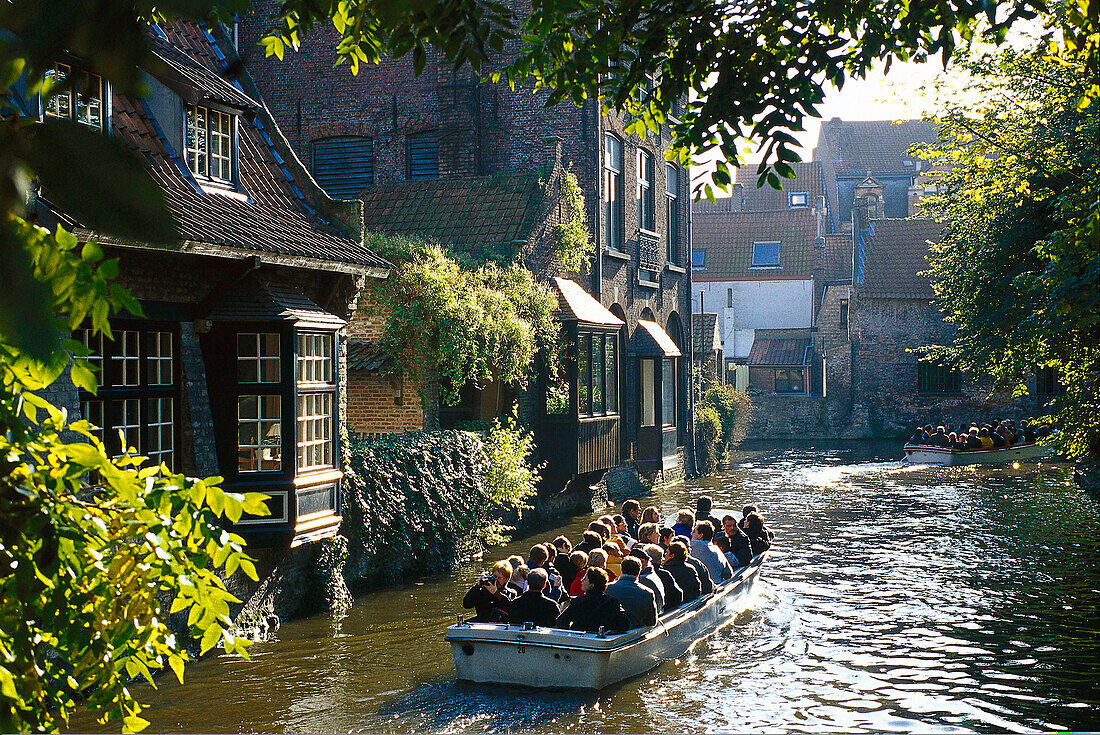
<svg viewBox="0 0 1100 735"><path fill-rule="evenodd" d="M334 334L298 334L298 471L334 465Z"/></svg>

